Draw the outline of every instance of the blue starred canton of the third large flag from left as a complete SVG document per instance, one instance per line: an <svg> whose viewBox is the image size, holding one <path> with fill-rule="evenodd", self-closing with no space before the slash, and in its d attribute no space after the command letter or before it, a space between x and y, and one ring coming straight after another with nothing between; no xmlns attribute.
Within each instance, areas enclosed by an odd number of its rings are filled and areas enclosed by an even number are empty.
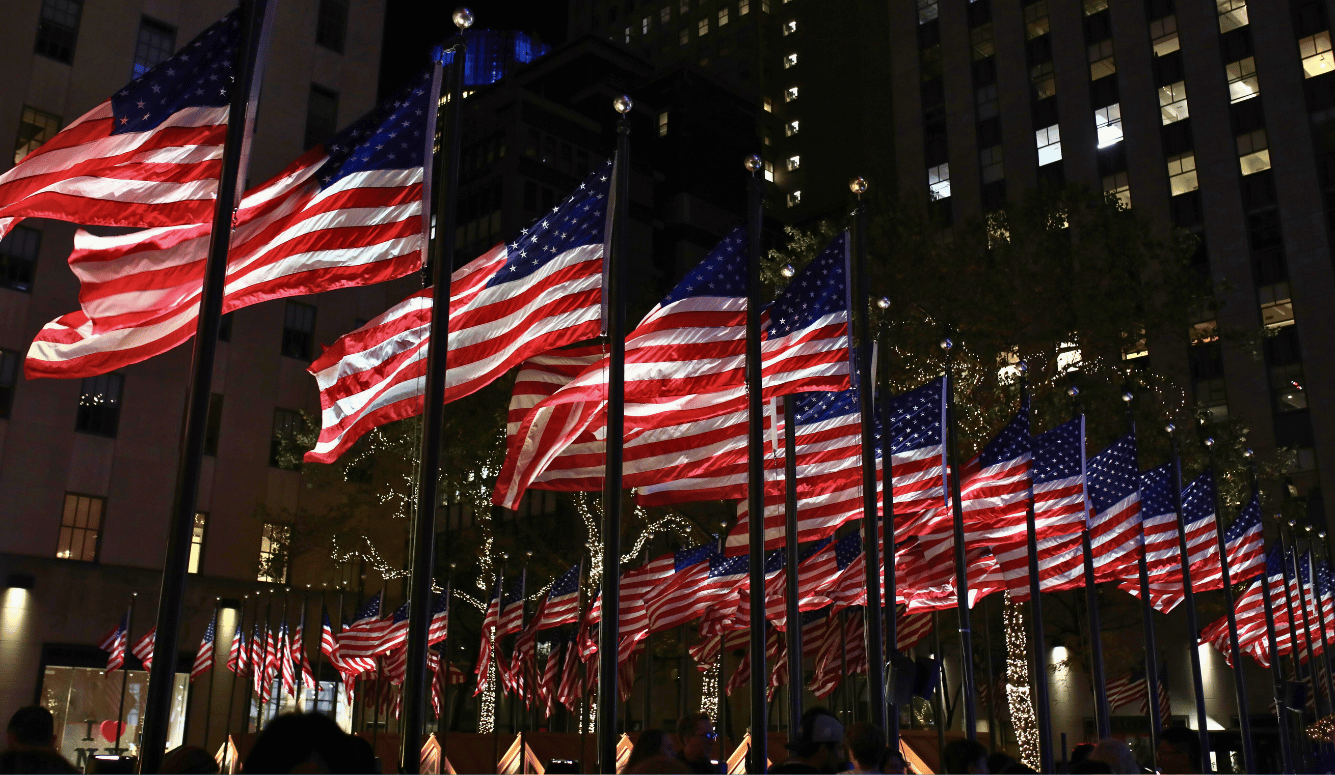
<svg viewBox="0 0 1335 775"><path fill-rule="evenodd" d="M609 180L611 161L586 177L570 199L551 208L550 213L533 221L529 228L519 229L519 239L506 245L506 264L487 287L527 277L566 251L602 244Z"/></svg>

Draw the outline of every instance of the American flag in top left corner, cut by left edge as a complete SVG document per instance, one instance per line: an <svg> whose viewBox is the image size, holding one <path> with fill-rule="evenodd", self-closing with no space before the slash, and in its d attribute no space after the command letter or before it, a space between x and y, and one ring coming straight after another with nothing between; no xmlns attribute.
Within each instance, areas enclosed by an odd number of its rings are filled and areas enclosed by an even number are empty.
<svg viewBox="0 0 1335 775"><path fill-rule="evenodd" d="M0 175L0 237L24 217L206 223L218 196L240 11Z"/></svg>

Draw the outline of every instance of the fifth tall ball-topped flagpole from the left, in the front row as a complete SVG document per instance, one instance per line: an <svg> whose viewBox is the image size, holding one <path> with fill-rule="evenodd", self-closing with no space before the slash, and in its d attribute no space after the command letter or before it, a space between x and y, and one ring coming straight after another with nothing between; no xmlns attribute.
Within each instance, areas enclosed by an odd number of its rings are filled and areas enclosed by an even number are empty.
<svg viewBox="0 0 1335 775"><path fill-rule="evenodd" d="M848 184L857 195L857 209L853 211L856 248L853 252L857 269L849 277L856 283L857 292L852 295L853 309L849 309L857 325L857 408L862 422L862 551L866 558L866 607L862 608L866 638L866 704L873 724L886 728L885 708L885 644L881 639L881 544L877 536L876 508L876 406L872 396L872 304L870 279L866 268L866 180L854 177ZM884 432L884 430L882 430Z"/></svg>

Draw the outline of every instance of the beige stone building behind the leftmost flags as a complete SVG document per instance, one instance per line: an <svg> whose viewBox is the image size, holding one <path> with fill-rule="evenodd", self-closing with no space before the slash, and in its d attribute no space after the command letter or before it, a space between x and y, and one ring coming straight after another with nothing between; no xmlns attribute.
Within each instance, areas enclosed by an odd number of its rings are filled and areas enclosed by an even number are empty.
<svg viewBox="0 0 1335 775"><path fill-rule="evenodd" d="M11 3L0 27L0 61L11 75L0 84L0 137L12 147L0 169L234 7L228 0ZM251 183L374 105L383 16L382 0L278 5ZM120 695L120 674L103 675L107 655L96 644L121 619L132 592L139 594L132 640L156 618L191 348L95 379L25 380L28 343L45 323L79 308L79 284L65 264L73 232L71 224L25 220L0 243L0 579L7 580L0 712L33 702L53 708L61 751L83 766L112 746L88 722L115 719ZM274 456L274 439L299 423L298 412L318 412L306 367L320 343L374 317L409 288L411 280L303 296L224 319L186 590L184 672L215 600L224 604L216 646L226 659L243 596L287 580L259 572L262 556L284 535L254 515L256 507L292 510L306 498L300 474L278 467ZM299 599L294 595L294 611ZM143 715L146 674L138 660L129 664L123 744L134 743ZM204 716L211 715L214 750L223 739L231 674L210 675L218 675L214 714L203 712L210 691L202 679L191 695L188 739L206 742ZM175 743L184 686L178 672ZM234 711L234 726L242 712Z"/></svg>

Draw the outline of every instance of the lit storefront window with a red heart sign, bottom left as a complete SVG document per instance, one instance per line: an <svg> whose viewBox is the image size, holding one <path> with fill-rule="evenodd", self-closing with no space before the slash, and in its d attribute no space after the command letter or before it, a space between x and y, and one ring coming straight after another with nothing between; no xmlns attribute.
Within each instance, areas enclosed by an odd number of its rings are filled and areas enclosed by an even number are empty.
<svg viewBox="0 0 1335 775"><path fill-rule="evenodd" d="M120 687L125 686L125 712L121 718L120 751L139 754L143 732L144 695L148 672L131 670L105 672L93 667L47 666L41 678L41 704L56 720L56 748L84 771L93 756L116 754L116 719ZM167 748L182 744L186 724L186 698L190 675L178 672L172 686L171 724Z"/></svg>

